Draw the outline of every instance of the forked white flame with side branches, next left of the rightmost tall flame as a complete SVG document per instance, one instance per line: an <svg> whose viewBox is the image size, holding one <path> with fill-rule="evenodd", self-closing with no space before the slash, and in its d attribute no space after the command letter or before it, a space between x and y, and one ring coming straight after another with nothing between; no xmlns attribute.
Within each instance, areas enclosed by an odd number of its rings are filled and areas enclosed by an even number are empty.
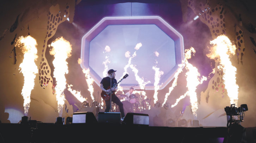
<svg viewBox="0 0 256 143"><path fill-rule="evenodd" d="M183 99L185 96L189 96L190 98L190 103L191 103L191 109L192 109L192 112L193 112L193 115L195 118L197 118L197 109L198 109L198 106L197 106L197 95L196 95L196 87L199 85L199 84L202 84L203 81L206 81L207 80L207 77L205 76L202 76L202 78L200 79L199 77L201 76L200 73L198 72L197 68L194 67L192 64L190 64L188 62L188 59L191 58L191 53L195 53L195 49L193 47L191 47L190 49L186 49L185 50L185 68L187 69L187 73L186 73L186 76L187 76L187 88L188 88L188 91L182 95L181 97L179 97L177 100L176 100L176 103L171 105L171 107L174 107L175 105L177 105L177 103Z"/></svg>

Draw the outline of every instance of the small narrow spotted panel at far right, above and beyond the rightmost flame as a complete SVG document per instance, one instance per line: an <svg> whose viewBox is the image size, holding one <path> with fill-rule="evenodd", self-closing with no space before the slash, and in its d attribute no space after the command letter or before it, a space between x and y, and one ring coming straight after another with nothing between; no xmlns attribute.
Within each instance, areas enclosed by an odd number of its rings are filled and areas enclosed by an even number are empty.
<svg viewBox="0 0 256 143"><path fill-rule="evenodd" d="M236 25L235 27L235 45L237 47L236 49L236 55L237 55L237 63L239 62L243 65L243 55L245 52L245 45L244 45L244 33L243 30Z"/></svg>

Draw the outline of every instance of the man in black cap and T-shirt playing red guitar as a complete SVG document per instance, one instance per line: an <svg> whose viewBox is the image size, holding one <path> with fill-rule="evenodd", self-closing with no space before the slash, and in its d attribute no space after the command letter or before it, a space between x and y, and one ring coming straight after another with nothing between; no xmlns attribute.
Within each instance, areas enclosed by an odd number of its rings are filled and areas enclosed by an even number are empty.
<svg viewBox="0 0 256 143"><path fill-rule="evenodd" d="M110 91L112 91L112 102L116 103L119 106L120 112L121 112L121 120L123 121L124 119L124 111L123 111L123 103L119 100L119 98L115 95L115 91L117 90L117 86L116 88L112 88L114 85L117 84L117 81L115 79L115 72L116 70L114 69L110 69L108 71L108 75L107 77L104 77L102 79L102 81L100 82L100 88L102 89L102 91L109 93ZM111 87L110 87L110 79L111 79ZM110 110L110 100L105 100L106 103L106 109L105 112L109 112Z"/></svg>

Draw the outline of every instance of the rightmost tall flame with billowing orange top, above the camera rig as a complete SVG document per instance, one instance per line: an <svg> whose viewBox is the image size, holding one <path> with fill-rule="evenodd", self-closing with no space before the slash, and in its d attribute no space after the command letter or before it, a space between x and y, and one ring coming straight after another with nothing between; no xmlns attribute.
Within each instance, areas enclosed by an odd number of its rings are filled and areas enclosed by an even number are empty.
<svg viewBox="0 0 256 143"><path fill-rule="evenodd" d="M220 35L216 39L210 41L213 45L209 47L211 53L207 54L210 59L219 59L220 67L223 69L223 80L227 95L230 98L230 104L236 104L238 101L238 85L236 84L237 68L232 66L230 56L235 54L236 46L225 35Z"/></svg>

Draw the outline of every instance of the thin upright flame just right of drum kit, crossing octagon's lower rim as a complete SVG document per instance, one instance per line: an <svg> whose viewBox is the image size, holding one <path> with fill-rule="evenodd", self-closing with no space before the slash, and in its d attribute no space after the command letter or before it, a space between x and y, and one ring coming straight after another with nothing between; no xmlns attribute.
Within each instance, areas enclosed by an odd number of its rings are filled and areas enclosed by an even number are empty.
<svg viewBox="0 0 256 143"><path fill-rule="evenodd" d="M157 103L158 101L158 98L157 98L157 94L158 94L158 90L160 88L160 85L159 85L159 81L160 81L160 77L161 75L164 74L164 71L161 71L160 68L157 68L157 67L152 67L153 70L155 70L155 82L154 82L154 104Z"/></svg>

